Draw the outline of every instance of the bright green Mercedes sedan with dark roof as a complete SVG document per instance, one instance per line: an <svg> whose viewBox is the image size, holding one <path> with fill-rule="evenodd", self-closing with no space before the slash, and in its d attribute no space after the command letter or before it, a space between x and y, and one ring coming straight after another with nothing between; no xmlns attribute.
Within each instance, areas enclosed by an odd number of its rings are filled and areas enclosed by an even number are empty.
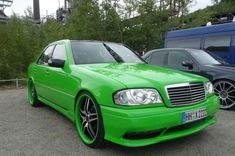
<svg viewBox="0 0 235 156"><path fill-rule="evenodd" d="M75 123L81 140L145 146L216 122L208 79L146 64L127 47L99 41L51 43L28 70L28 99Z"/></svg>

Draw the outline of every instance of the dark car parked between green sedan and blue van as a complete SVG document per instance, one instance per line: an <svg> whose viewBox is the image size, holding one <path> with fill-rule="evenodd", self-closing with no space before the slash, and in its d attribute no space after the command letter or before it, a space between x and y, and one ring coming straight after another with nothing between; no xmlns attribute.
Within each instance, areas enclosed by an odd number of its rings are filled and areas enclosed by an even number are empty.
<svg viewBox="0 0 235 156"><path fill-rule="evenodd" d="M207 52L196 49L152 50L143 58L152 65L164 66L207 77L213 82L222 109L235 107L235 66L222 64Z"/></svg>

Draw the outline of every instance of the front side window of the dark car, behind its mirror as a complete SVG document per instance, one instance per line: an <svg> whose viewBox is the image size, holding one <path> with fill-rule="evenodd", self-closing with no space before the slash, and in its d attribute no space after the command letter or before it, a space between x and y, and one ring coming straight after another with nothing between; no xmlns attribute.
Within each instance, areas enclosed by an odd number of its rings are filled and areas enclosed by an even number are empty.
<svg viewBox="0 0 235 156"><path fill-rule="evenodd" d="M183 66L183 62L192 63L192 68ZM193 58L184 50L169 50L167 56L167 67L182 71L197 73L198 68Z"/></svg>

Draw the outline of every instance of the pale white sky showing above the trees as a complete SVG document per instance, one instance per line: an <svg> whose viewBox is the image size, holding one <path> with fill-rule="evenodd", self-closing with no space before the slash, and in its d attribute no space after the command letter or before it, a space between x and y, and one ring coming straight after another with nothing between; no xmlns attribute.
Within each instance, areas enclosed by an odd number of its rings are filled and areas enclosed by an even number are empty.
<svg viewBox="0 0 235 156"><path fill-rule="evenodd" d="M198 9L203 9L208 5L211 5L211 0L195 0L196 3L190 8L190 12ZM41 16L55 15L59 6L63 6L63 0L40 0L40 12ZM10 8L5 9L5 13L9 16L12 12L18 15L24 15L24 11L28 8L32 8L33 0L13 0L13 5Z"/></svg>

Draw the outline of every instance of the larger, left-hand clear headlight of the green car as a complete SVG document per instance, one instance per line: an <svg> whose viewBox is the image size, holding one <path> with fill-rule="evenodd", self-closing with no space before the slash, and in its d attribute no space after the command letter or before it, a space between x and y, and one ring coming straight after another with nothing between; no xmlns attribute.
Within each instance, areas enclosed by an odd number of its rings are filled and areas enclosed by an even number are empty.
<svg viewBox="0 0 235 156"><path fill-rule="evenodd" d="M127 89L114 95L114 101L120 105L145 105L162 103L161 96L155 89Z"/></svg>

